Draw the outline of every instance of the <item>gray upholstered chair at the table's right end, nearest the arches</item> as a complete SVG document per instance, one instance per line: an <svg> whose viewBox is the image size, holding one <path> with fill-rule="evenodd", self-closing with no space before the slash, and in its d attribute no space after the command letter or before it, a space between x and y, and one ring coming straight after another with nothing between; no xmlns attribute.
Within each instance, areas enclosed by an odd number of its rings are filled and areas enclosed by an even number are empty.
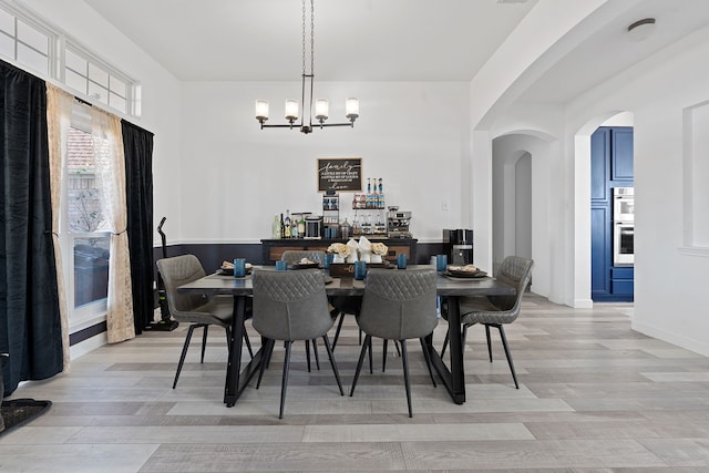
<svg viewBox="0 0 709 473"><path fill-rule="evenodd" d="M514 371L514 363L512 361L512 354L510 353L510 346L507 343L507 337L505 336L504 327L507 323L514 322L520 316L520 308L522 306L522 297L530 285L532 279L532 259L523 258L521 256L507 256L500 265L495 278L503 282L513 286L516 290L514 296L484 296L484 297L464 297L461 298L461 323L463 323L462 343L465 345L465 337L467 329L475 323L485 326L485 337L487 338L487 354L490 362L492 362L492 341L490 339L490 328L494 327L500 331L500 338L502 339L502 346L507 357L507 364L510 364L510 371L512 372L512 379L514 385L520 389L517 383L517 374ZM445 308L441 310L441 316L448 320L448 311ZM441 349L441 357L445 352L449 338L445 335L443 341L443 348Z"/></svg>

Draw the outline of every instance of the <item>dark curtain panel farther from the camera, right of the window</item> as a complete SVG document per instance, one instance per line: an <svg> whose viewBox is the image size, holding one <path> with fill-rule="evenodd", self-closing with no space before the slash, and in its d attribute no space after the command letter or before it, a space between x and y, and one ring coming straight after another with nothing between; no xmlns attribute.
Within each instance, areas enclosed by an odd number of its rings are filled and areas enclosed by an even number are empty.
<svg viewBox="0 0 709 473"><path fill-rule="evenodd" d="M123 120L135 333L153 321L153 134Z"/></svg>

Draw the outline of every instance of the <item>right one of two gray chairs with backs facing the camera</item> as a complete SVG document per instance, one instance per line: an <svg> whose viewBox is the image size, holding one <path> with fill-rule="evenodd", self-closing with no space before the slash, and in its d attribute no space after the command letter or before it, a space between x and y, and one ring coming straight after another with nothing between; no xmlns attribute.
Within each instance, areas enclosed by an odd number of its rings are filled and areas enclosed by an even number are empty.
<svg viewBox="0 0 709 473"><path fill-rule="evenodd" d="M357 319L366 337L350 395L354 394L367 350L369 350L371 358L372 337L397 340L401 346L409 417L413 417L407 340L418 338L421 342L429 374L435 385L431 359L424 342L424 337L431 335L438 325L435 281L436 274L433 269L408 269L405 271L370 269L367 273L362 308Z"/></svg>

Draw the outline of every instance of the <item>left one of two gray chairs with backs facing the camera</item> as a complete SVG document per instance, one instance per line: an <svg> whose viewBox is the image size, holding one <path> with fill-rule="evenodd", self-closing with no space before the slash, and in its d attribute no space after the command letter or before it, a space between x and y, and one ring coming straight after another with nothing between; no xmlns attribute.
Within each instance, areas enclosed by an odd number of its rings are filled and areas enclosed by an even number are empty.
<svg viewBox="0 0 709 473"><path fill-rule="evenodd" d="M290 348L296 340L322 338L330 359L340 395L345 395L337 363L330 349L328 330L332 328L332 317L328 310L325 290L325 276L318 269L299 271L255 270L254 282L254 329L266 338L265 359L261 361L258 383L274 350L275 340L286 345L284 374L280 388L280 413L284 418L288 371L290 369Z"/></svg>

